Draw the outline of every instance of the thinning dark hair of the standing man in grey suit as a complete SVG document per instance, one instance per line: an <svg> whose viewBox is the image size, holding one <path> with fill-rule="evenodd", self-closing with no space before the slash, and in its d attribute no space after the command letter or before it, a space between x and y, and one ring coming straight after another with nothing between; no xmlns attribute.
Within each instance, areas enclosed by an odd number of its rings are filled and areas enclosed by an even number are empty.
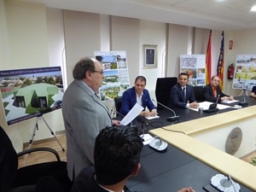
<svg viewBox="0 0 256 192"><path fill-rule="evenodd" d="M73 79L84 79L87 71L95 71L95 63L90 57L85 57L77 62L73 68Z"/></svg>

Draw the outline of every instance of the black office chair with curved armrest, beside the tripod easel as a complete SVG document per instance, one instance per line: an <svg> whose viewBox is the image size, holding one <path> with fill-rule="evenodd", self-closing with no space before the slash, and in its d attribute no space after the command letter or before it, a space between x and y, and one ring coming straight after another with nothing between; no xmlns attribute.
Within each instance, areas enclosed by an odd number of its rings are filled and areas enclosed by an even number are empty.
<svg viewBox="0 0 256 192"><path fill-rule="evenodd" d="M56 161L18 169L20 156L40 151L55 154ZM0 170L0 192L34 192L38 181L44 177L53 178L51 180L53 182L48 183L49 191L69 192L72 187L72 182L67 177L67 162L61 161L59 154L53 148L31 148L17 154L2 126L0 126ZM59 183L61 189L53 190L55 183Z"/></svg>

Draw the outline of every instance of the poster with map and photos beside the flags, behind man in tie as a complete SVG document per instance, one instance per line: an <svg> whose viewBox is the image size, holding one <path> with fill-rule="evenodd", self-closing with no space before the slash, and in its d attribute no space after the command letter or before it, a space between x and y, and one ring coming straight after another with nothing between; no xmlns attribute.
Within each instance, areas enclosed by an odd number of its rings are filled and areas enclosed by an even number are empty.
<svg viewBox="0 0 256 192"><path fill-rule="evenodd" d="M180 55L180 73L189 74L189 84L205 86L206 55Z"/></svg>

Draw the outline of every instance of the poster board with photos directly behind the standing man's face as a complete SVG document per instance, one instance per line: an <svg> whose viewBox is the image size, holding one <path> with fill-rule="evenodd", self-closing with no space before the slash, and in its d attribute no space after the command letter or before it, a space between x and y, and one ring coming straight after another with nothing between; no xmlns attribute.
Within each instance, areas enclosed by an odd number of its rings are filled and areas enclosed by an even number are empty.
<svg viewBox="0 0 256 192"><path fill-rule="evenodd" d="M102 101L113 100L122 96L130 88L130 79L126 52L120 51L95 51L95 58L102 63L104 79L99 90Z"/></svg>

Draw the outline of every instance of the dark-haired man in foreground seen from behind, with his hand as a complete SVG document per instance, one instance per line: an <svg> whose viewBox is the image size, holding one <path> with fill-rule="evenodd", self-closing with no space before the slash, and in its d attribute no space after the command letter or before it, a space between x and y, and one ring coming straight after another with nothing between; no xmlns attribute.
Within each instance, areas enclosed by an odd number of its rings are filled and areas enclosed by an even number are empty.
<svg viewBox="0 0 256 192"><path fill-rule="evenodd" d="M95 166L84 168L73 183L71 192L131 192L125 186L141 167L143 142L132 127L107 127L96 137ZM178 192L195 192L183 188Z"/></svg>

